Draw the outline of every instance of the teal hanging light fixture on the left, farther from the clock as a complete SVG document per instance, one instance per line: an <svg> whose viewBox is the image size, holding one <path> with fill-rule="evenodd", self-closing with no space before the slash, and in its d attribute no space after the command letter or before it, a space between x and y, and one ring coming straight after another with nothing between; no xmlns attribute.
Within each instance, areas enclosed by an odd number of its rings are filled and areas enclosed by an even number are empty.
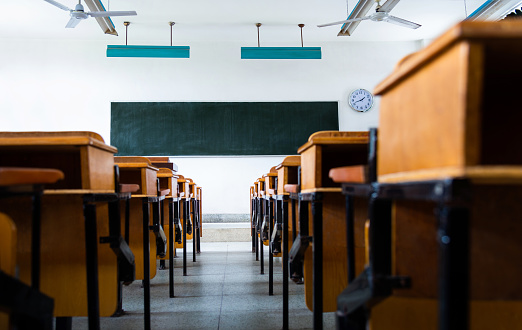
<svg viewBox="0 0 522 330"><path fill-rule="evenodd" d="M129 46L127 44L127 29L130 22L125 25L125 45L107 45L107 57L148 57L148 58L190 58L190 46L172 46L172 27L170 25L170 46Z"/></svg>

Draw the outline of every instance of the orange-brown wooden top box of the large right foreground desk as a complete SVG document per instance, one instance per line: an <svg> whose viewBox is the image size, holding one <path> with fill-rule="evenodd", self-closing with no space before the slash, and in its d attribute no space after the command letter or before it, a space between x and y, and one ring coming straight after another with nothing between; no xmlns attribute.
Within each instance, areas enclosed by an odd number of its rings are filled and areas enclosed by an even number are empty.
<svg viewBox="0 0 522 330"><path fill-rule="evenodd" d="M520 22L462 22L379 84L378 174L518 165ZM502 115L499 115L502 111Z"/></svg>

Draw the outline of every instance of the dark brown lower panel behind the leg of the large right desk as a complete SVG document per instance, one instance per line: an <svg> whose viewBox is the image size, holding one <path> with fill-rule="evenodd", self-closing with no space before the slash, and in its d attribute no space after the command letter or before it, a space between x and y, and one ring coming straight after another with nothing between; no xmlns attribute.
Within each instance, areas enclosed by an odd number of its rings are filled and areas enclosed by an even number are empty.
<svg viewBox="0 0 522 330"><path fill-rule="evenodd" d="M522 190L516 185L474 185L470 213L470 296L522 300ZM395 295L437 297L437 223L434 204L396 202L394 272L412 288ZM502 275L498 271L502 269ZM521 310L522 312L522 310Z"/></svg>

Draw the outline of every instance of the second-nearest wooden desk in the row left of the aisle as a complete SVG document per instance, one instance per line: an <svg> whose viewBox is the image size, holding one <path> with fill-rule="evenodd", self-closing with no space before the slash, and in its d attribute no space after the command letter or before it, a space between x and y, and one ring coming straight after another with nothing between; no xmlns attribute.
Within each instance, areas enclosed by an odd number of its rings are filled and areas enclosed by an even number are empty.
<svg viewBox="0 0 522 330"><path fill-rule="evenodd" d="M143 280L144 327L150 329L150 279L156 276L156 262L150 261L156 260L158 246L165 253L164 234L161 235L163 229L159 224L160 202L165 199L165 196L158 193L159 170L153 167L147 158L114 157L114 162L120 168L121 183L139 184L139 190L132 194L130 200L129 246L136 256L136 279ZM151 244L151 241L156 244Z"/></svg>

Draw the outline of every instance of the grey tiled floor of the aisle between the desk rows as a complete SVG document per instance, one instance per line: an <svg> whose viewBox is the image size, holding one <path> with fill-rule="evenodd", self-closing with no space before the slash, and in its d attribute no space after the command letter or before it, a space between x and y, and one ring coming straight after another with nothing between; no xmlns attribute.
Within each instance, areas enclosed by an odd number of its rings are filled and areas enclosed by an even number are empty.
<svg viewBox="0 0 522 330"><path fill-rule="evenodd" d="M192 248L191 244L189 247ZM202 242L201 254L182 276L183 260L174 260L175 298L169 298L167 269L151 280L152 329L281 329L282 270L274 258L274 295L268 295L268 248L265 274L251 252L250 242ZM143 329L141 281L124 287L126 315L102 318L102 329ZM312 312L304 302L304 287L289 283L290 328L311 329ZM324 314L324 329L334 329L333 313ZM86 329L86 318L74 318L73 329Z"/></svg>

